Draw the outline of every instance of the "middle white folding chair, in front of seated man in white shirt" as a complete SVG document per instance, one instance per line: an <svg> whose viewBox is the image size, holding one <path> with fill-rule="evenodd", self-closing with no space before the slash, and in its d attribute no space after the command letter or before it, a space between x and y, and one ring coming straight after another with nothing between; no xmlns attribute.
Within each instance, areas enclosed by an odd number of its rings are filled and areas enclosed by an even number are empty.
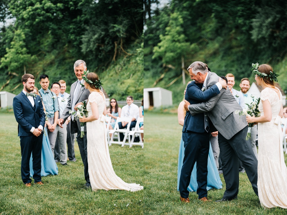
<svg viewBox="0 0 287 215"><path fill-rule="evenodd" d="M119 129L119 124L120 122L127 122L127 129ZM129 127L131 126L131 118L129 117L118 117L116 124L115 124L115 128L113 130L110 130L109 133L112 134L111 138L110 138L110 144L109 146L111 146L113 143L115 144L120 144L123 146L130 144L129 138L128 138L128 143L126 143L127 137L128 137L128 133L130 132ZM124 134L124 139L123 141L120 140L120 133ZM118 135L118 140L115 141L114 140L114 135L117 134Z"/></svg>

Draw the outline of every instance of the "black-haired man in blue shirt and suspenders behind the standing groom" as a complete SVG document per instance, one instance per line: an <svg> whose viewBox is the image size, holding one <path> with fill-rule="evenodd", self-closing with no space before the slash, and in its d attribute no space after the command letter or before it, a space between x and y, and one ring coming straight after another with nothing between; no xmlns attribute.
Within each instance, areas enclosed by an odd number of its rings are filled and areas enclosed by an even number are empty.
<svg viewBox="0 0 287 215"><path fill-rule="evenodd" d="M42 101L46 109L48 121L49 123L51 123L51 127L48 127L48 137L51 145L51 150L54 155L54 148L57 139L57 122L59 117L59 108L56 94L48 89L49 83L50 81L48 75L40 76L40 85L42 88L39 90L39 93L42 97Z"/></svg>

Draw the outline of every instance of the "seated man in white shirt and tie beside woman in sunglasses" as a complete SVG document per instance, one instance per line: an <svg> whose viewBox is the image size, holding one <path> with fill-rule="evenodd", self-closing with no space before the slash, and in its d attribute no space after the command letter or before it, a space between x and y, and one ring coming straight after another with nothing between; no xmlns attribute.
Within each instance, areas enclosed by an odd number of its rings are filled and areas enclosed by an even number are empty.
<svg viewBox="0 0 287 215"><path fill-rule="evenodd" d="M123 106L121 117L131 118L131 125L129 130L135 127L137 123L137 117L139 117L139 107L136 104L133 104L133 96L127 96L127 105ZM127 128L127 122L120 122L119 129ZM120 140L123 141L124 135L120 133Z"/></svg>

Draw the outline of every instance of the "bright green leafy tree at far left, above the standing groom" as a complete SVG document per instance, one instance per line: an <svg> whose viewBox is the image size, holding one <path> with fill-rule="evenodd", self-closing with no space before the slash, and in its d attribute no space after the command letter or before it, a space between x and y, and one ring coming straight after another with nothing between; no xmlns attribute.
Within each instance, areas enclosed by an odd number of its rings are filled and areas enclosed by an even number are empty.
<svg viewBox="0 0 287 215"><path fill-rule="evenodd" d="M1 58L0 67L7 67L10 73L26 74L26 66L35 62L37 57L28 54L24 40L24 33L16 30L11 47L6 49L7 54Z"/></svg>

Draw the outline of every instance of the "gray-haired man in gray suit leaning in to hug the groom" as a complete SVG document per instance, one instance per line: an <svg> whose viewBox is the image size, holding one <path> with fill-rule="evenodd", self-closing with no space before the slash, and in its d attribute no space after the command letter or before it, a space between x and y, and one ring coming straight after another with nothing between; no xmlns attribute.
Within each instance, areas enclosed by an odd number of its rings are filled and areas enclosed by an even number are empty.
<svg viewBox="0 0 287 215"><path fill-rule="evenodd" d="M193 62L189 67L191 79L196 83L202 83L205 89L218 82L219 76L213 72L206 72L205 63ZM251 182L255 194L257 189L257 159L251 147L250 140L245 140L248 124L245 117L235 114L236 110L242 110L236 102L230 90L222 88L220 94L209 100L190 104L185 100L184 108L191 115L208 112L208 117L218 130L218 144L222 152L222 170L226 183L226 191L223 198L216 202L225 202L237 198L239 190L238 158L243 162L245 171ZM212 126L210 126L212 129Z"/></svg>

